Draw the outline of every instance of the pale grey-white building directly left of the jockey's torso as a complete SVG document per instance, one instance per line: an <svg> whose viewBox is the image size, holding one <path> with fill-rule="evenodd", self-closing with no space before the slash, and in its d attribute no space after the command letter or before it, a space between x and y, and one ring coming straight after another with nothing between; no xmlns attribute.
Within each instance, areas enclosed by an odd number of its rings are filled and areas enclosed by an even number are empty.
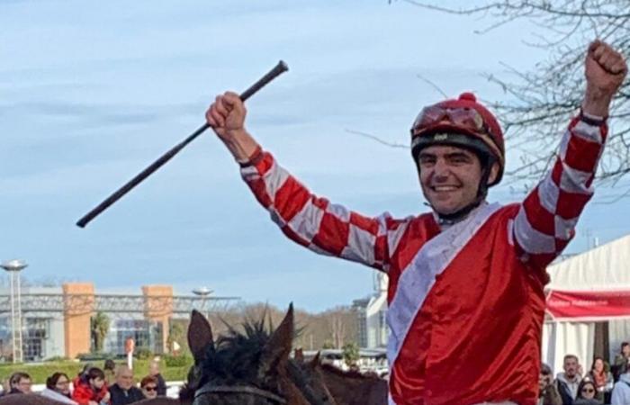
<svg viewBox="0 0 630 405"><path fill-rule="evenodd" d="M387 347L387 275L374 272L374 293L352 304L358 317L359 347Z"/></svg>

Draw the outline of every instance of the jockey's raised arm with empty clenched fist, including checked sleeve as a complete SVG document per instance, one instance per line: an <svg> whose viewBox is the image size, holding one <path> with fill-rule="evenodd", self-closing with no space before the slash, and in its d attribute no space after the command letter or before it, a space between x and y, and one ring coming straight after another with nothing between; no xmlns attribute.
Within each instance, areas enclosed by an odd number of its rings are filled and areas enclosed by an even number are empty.
<svg viewBox="0 0 630 405"><path fill-rule="evenodd" d="M627 73L626 60L595 40L584 62L586 92L581 113L563 136L555 164L521 205L514 220L516 245L523 258L546 266L573 238L608 135L608 109Z"/></svg>

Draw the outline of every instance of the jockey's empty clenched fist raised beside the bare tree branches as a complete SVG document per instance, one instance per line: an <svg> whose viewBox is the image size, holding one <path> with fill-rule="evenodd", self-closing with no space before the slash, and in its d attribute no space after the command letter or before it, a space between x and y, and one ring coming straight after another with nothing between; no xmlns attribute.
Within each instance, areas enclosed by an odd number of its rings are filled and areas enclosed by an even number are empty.
<svg viewBox="0 0 630 405"><path fill-rule="evenodd" d="M626 60L607 43L594 40L590 43L584 65L586 94L582 111L608 117L610 102L627 74Z"/></svg>

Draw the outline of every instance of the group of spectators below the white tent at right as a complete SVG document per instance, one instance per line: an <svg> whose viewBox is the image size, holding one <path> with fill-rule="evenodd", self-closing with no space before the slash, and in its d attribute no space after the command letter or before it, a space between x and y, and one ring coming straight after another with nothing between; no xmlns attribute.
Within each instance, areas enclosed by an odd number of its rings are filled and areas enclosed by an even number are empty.
<svg viewBox="0 0 630 405"><path fill-rule="evenodd" d="M612 365L599 356L588 372L578 356L563 358L563 372L555 378L549 365L540 371L538 405L630 404L630 344L624 342Z"/></svg>

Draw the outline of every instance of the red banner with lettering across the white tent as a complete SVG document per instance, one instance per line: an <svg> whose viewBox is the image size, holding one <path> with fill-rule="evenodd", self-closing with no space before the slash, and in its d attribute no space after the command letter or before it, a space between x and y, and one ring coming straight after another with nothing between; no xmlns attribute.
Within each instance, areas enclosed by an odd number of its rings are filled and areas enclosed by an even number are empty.
<svg viewBox="0 0 630 405"><path fill-rule="evenodd" d="M630 291L552 291L547 312L554 320L630 318Z"/></svg>

